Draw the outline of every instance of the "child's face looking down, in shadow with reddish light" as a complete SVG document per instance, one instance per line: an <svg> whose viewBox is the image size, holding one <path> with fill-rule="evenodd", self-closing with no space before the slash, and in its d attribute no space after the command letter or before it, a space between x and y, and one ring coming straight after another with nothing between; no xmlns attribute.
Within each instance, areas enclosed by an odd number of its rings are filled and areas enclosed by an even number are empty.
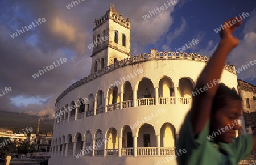
<svg viewBox="0 0 256 165"><path fill-rule="evenodd" d="M219 135L214 137L224 143L232 142L236 137L235 130L240 129L239 117L242 115L242 104L240 100L229 101L226 107L217 109L211 117L210 134L218 132Z"/></svg>

